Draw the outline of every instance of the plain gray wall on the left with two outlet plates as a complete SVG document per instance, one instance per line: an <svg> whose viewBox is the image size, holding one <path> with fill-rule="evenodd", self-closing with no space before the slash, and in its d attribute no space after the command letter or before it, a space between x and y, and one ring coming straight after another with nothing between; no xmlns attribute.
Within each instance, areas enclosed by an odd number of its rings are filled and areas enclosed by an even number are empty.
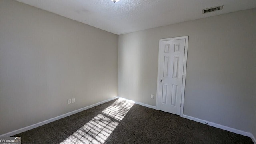
<svg viewBox="0 0 256 144"><path fill-rule="evenodd" d="M117 76L117 35L0 0L0 134L113 98Z"/></svg>

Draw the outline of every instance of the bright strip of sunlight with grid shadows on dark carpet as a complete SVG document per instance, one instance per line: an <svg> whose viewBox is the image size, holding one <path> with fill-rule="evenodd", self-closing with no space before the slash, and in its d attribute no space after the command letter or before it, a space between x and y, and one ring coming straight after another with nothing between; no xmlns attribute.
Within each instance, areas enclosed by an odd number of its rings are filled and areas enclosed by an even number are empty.
<svg viewBox="0 0 256 144"><path fill-rule="evenodd" d="M133 104L133 101L118 98L102 114L95 116L60 144L103 144Z"/></svg>

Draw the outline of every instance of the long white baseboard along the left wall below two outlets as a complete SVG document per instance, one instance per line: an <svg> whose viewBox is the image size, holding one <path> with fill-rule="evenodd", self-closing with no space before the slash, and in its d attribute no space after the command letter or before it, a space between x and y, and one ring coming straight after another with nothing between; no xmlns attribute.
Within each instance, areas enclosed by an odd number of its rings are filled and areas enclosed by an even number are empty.
<svg viewBox="0 0 256 144"><path fill-rule="evenodd" d="M72 111L72 112L68 112L68 113L66 113L66 114L62 114L62 115L60 115L60 116L56 116L55 118L50 118L49 120L44 120L44 121L42 121L42 122L38 122L38 123L36 123L36 124L32 124L32 125L30 125L30 126L26 126L26 127L24 127L24 128L20 128L20 129L18 129L18 130L14 130L14 131L12 131L12 132L8 132L8 133L6 133L6 134L2 134L2 135L0 135L0 137L9 137L9 136L13 136L13 135L15 135L15 134L19 134L19 133L21 133L21 132L25 132L25 131L27 131L27 130L31 130L31 129L33 129L33 128L37 128L37 127L39 127L39 126L42 126L42 125L44 125L44 124L48 124L48 123L53 122L53 121L55 121L55 120L59 120L59 119L61 119L61 118L65 118L65 117L67 117L67 116L71 116L72 114L76 114L76 113L78 113L78 112L82 112L82 111L87 110L87 109L89 109L89 108L92 108L92 107L94 107L94 106L98 106L98 105L100 105L100 104L104 104L105 102L109 102L109 101L114 100L114 99L116 99L116 98L118 98L118 97L110 98L110 99L108 99L108 100L104 100L104 101L102 101L102 102L98 102L98 103L96 103L96 104L92 104L92 105L90 105L90 106L86 106L86 107L84 107L84 108L80 108L80 109L78 109L78 110L74 110L74 111Z"/></svg>

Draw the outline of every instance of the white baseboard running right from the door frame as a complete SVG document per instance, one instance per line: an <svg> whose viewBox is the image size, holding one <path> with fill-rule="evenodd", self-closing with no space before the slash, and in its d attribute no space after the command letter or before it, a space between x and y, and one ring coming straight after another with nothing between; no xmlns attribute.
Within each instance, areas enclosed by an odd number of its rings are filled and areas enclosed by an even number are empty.
<svg viewBox="0 0 256 144"><path fill-rule="evenodd" d="M243 135L243 136L248 136L248 137L252 138L252 141L254 141L254 144L256 144L256 143L255 143L255 138L254 138L254 136L252 135L252 133L250 133L250 132L244 132L244 131L242 131L242 130L238 130L238 129L235 129L235 128L230 128L230 127L228 127L228 126L223 126L223 125L216 124L216 123L214 123L214 122L209 122L209 121L206 121L206 120L202 120L202 119L199 119L199 118L194 118L194 117L192 117L192 116L187 116L187 115L185 115L185 114L183 114L183 118L187 118L187 119L189 119L189 120L193 120L193 121L196 121L196 122L200 122L200 123L202 123L202 124L207 124L207 125L213 126L213 127L215 127L215 128L220 128L220 129L222 129L222 130L227 130L227 131L229 131L229 132L234 132L234 133L236 133L236 134L241 134L241 135Z"/></svg>

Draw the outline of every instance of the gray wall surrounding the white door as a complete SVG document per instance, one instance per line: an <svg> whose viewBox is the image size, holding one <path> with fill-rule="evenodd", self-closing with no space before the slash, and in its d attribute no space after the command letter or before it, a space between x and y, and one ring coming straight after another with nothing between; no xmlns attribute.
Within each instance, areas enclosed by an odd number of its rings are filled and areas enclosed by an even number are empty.
<svg viewBox="0 0 256 144"><path fill-rule="evenodd" d="M184 114L252 132L255 15L244 10L120 35L118 96L156 106L159 39L189 36Z"/></svg>

